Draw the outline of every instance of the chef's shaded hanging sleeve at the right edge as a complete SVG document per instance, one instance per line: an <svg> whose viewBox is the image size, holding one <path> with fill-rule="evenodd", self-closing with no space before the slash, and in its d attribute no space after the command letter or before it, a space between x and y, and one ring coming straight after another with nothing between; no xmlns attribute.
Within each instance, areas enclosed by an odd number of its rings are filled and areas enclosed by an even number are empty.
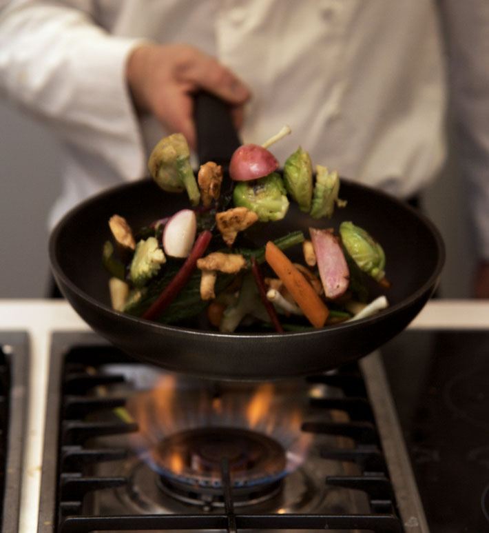
<svg viewBox="0 0 489 533"><path fill-rule="evenodd" d="M448 43L448 79L460 170L476 228L477 254L489 260L489 1L439 0Z"/></svg>

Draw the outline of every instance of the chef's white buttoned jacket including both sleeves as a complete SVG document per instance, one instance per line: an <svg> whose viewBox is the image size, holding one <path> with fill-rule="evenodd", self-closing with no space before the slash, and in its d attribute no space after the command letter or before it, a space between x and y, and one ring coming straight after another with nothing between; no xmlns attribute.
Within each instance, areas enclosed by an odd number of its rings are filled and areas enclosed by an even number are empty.
<svg viewBox="0 0 489 533"><path fill-rule="evenodd" d="M488 0L14 0L0 12L0 90L63 144L50 225L81 199L147 175L168 133L136 115L127 90L125 63L141 39L194 45L245 81L243 141L262 143L288 123L293 134L271 149L281 163L302 145L313 164L409 197L445 157L440 12L489 258Z"/></svg>

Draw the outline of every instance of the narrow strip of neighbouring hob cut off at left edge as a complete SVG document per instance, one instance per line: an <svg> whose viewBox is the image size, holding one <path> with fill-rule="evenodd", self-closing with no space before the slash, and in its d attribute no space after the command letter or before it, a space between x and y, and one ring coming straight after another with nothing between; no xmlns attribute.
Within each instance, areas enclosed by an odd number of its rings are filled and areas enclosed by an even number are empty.
<svg viewBox="0 0 489 533"><path fill-rule="evenodd" d="M0 332L0 524L19 527L22 454L28 390L28 336Z"/></svg>

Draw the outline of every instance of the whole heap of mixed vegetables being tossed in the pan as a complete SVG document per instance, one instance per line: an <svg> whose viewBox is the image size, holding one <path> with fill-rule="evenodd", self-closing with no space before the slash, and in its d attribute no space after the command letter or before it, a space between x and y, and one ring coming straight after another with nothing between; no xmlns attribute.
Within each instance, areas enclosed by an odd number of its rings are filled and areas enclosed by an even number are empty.
<svg viewBox="0 0 489 533"><path fill-rule="evenodd" d="M283 181L273 172L278 162L271 161L267 148L289 132L283 128L258 147L262 160L253 160L256 145L241 147L235 154L236 181L223 194L222 168L212 161L200 166L199 192L181 134L156 145L149 158L156 183L168 192L187 190L194 208L159 214L136 232L121 215L110 218L115 246L105 242L102 262L115 310L185 325L207 316L210 327L227 333L249 324L282 333L361 319L388 305L385 298L368 305L367 274L387 286L385 255L352 222L342 222L339 232L318 223L309 228L310 241L300 230L266 239L269 224L286 216L289 197L313 219L330 218L335 206L346 203L338 199L337 172L316 165L313 183L311 158L302 148L285 162ZM271 161L260 177L246 168L258 160L259 174ZM251 235L260 232L266 245L253 244ZM287 257L289 249L293 259Z"/></svg>

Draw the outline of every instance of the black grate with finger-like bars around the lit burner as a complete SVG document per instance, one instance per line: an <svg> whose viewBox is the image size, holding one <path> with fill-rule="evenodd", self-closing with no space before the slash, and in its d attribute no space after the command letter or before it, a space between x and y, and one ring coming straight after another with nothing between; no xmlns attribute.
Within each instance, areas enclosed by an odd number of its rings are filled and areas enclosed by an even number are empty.
<svg viewBox="0 0 489 533"><path fill-rule="evenodd" d="M82 337L83 335L78 337ZM86 341L86 339L85 339ZM341 530L402 533L393 485L382 454L382 444L375 425L375 417L368 402L362 374L355 364L333 374L311 377L308 381L329 385L342 392L342 397L318 398L311 402L315 408L333 413L326 421L306 421L304 432L338 436L346 447L320 450L324 459L356 465L360 475L326 476L324 483L334 487L361 491L370 506L368 514L240 514L233 508L229 488L229 471L222 465L225 508L218 514L146 514L121 516L92 516L86 512L86 501L94 493L120 487L127 482L124 476L90 476L90 465L123 459L126 450L113 447L93 447L96 436L116 436L136 431L134 423L116 417L93 420L94 413L121 408L125 398L96 396L95 388L110 387L124 381L124 376L103 374L101 365L130 364L118 350L92 339L88 348L79 345L68 348L67 337L54 336L50 370L50 391L39 533L88 533L109 531L163 530ZM70 347L72 344L70 339ZM86 344L86 343L85 343ZM89 343L90 344L90 343ZM100 389L98 389L100 390ZM59 413L59 420L56 412ZM349 447L348 447L349 446ZM55 495L55 496L54 496Z"/></svg>

